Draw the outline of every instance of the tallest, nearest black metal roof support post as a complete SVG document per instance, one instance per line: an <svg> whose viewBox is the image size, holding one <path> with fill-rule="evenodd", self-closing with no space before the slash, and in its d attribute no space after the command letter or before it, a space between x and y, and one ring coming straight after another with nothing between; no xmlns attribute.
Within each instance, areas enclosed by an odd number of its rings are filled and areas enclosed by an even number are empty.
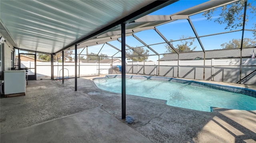
<svg viewBox="0 0 256 143"><path fill-rule="evenodd" d="M125 84L125 24L121 24L121 51L122 51L122 119L126 118L126 84Z"/></svg>

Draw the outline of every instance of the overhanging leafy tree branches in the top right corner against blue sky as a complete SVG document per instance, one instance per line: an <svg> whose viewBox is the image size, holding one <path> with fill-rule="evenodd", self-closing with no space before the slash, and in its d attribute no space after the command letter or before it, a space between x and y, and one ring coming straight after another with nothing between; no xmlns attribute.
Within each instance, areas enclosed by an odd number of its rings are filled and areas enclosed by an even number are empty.
<svg viewBox="0 0 256 143"><path fill-rule="evenodd" d="M248 1L247 9L246 9L246 21L254 20L254 16L256 16L256 6L252 4L253 1ZM214 20L219 24L226 24L225 29L232 30L233 28L236 29L237 27L241 27L243 25L243 18L244 18L244 0L240 0L225 6L221 7L221 10L218 8L214 8L212 10L208 10L204 12L202 15L207 18L207 20L212 20L212 16L217 13L219 17ZM249 19L248 14L252 14ZM254 20L255 22L255 20ZM252 29L256 29L256 23L254 23L254 27ZM253 32L254 37L256 39L256 31Z"/></svg>

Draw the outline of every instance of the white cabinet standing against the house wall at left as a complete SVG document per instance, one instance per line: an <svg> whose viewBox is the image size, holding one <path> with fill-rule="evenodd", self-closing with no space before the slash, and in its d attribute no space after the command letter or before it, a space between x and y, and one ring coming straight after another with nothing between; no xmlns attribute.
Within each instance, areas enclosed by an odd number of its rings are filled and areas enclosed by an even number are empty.
<svg viewBox="0 0 256 143"><path fill-rule="evenodd" d="M4 95L8 97L9 94L26 94L25 71L4 71Z"/></svg>

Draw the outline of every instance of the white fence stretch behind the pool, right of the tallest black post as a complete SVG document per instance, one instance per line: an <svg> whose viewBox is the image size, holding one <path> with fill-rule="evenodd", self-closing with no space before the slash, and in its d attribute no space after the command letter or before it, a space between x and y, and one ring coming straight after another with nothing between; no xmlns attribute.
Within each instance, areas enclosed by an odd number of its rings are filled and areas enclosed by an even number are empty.
<svg viewBox="0 0 256 143"><path fill-rule="evenodd" d="M152 67L153 65L154 67ZM158 73L159 68L159 76L198 80L204 79L232 83L236 83L240 79L240 59L205 60L205 66L203 60L179 61L179 66L178 61L160 61L159 65L160 66L158 67L158 62L146 62L144 67L143 62L134 62L133 72L130 70L128 73L155 75L155 73ZM249 67L250 65L251 67ZM132 69L130 64L128 66L129 69ZM242 59L242 78L256 70L255 66L256 59ZM140 72L138 72L138 70L140 70ZM242 80L242 83L256 84L256 72Z"/></svg>

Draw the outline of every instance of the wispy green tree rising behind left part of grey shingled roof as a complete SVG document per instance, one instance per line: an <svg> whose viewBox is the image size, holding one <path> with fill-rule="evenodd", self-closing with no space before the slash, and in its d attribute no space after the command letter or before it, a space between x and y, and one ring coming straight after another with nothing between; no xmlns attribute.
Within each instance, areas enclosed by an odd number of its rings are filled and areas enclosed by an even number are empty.
<svg viewBox="0 0 256 143"><path fill-rule="evenodd" d="M187 39L187 38L191 38L191 37L185 37L184 35L182 35L182 37L180 39L186 39L186 40L181 40L180 41L181 44L177 44L175 46L175 48L178 50L179 53L191 52L196 49L196 46L191 47L193 45L193 42L195 41L195 39ZM172 40L170 40L170 41L172 41ZM176 53L168 44L166 44L165 47L167 49L165 53Z"/></svg>

